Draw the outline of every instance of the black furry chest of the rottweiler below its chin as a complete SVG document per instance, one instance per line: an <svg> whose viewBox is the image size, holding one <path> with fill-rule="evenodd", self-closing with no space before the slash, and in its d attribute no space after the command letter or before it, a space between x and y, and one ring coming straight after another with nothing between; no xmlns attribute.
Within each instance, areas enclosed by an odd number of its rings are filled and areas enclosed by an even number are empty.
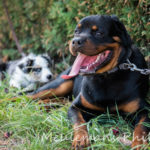
<svg viewBox="0 0 150 150"><path fill-rule="evenodd" d="M133 86L116 79L84 78L81 93L85 99L100 107L112 107L132 97Z"/></svg>

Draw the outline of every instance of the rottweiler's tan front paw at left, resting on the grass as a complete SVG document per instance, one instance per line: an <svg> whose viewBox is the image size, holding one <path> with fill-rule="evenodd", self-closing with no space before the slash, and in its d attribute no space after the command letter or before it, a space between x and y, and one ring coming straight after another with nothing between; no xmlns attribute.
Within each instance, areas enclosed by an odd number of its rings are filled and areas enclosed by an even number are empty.
<svg viewBox="0 0 150 150"><path fill-rule="evenodd" d="M74 134L72 148L75 150L81 150L85 147L90 146L88 132L86 130L80 130Z"/></svg>

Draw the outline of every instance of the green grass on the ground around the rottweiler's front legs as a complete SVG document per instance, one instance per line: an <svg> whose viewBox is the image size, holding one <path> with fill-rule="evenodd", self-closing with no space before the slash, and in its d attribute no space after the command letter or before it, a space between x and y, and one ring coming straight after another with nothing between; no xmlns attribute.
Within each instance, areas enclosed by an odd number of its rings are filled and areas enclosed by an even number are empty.
<svg viewBox="0 0 150 150"><path fill-rule="evenodd" d="M8 98L18 90L12 88L6 93L8 85L0 87L0 150L70 150L73 130L67 119L70 103L47 112L44 105L37 104L26 95L16 102ZM87 123L93 150L129 150L120 138L132 139L133 129L121 116L109 113L98 116ZM113 129L119 128L119 135ZM5 133L11 136L6 138Z"/></svg>

